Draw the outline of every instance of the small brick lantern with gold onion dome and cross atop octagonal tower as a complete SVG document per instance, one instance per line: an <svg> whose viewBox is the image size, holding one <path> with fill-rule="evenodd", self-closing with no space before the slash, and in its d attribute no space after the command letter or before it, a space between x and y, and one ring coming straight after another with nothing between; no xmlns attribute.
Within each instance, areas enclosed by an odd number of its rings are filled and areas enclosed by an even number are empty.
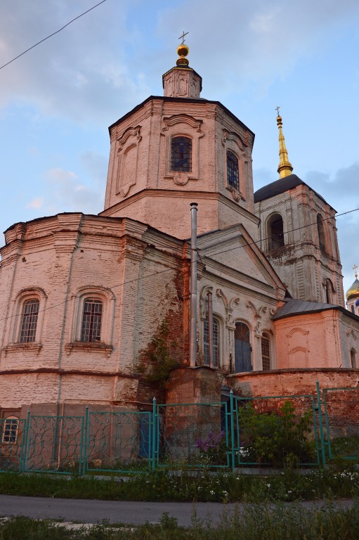
<svg viewBox="0 0 359 540"><path fill-rule="evenodd" d="M185 44L185 35L179 37L182 39L181 45L177 47L178 58L176 66L167 71L162 77L164 96L170 98L200 98L202 90L202 77L198 75L188 61L190 48Z"/></svg>

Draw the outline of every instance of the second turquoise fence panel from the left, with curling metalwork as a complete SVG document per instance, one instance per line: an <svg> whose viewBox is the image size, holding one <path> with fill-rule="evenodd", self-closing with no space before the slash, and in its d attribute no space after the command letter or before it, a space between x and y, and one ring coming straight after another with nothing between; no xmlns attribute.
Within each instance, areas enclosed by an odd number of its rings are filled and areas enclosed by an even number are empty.
<svg viewBox="0 0 359 540"><path fill-rule="evenodd" d="M24 470L81 473L83 416L31 416L25 442Z"/></svg>

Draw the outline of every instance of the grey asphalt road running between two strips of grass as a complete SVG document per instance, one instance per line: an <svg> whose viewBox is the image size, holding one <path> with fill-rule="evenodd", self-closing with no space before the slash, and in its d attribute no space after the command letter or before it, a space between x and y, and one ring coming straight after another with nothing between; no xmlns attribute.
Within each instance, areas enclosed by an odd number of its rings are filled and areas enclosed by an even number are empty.
<svg viewBox="0 0 359 540"><path fill-rule="evenodd" d="M318 503L303 502L303 506L313 508ZM338 508L348 508L353 501L337 501ZM190 525L195 510L197 518L210 517L218 521L223 512L232 513L241 504L221 503L138 503L131 501L95 501L90 499L47 499L45 497L20 497L0 495L0 517L27 515L30 518L53 518L81 523L96 523L108 520L111 523L140 525L145 522L159 522L162 514L168 512L178 519L178 525Z"/></svg>

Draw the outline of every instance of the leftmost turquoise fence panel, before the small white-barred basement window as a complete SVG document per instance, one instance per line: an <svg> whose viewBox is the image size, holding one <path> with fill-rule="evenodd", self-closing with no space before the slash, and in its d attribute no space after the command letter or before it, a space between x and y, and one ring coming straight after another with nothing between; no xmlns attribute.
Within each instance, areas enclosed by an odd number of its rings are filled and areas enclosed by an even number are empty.
<svg viewBox="0 0 359 540"><path fill-rule="evenodd" d="M19 473L22 470L25 435L25 419L0 418L0 471Z"/></svg>

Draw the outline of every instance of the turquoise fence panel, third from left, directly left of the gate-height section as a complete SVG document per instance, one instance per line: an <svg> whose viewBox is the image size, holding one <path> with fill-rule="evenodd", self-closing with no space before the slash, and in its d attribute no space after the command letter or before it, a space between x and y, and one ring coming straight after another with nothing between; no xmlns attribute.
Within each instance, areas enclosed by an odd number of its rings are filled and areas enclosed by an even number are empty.
<svg viewBox="0 0 359 540"><path fill-rule="evenodd" d="M129 472L152 463L150 412L91 412L86 423L86 469Z"/></svg>

